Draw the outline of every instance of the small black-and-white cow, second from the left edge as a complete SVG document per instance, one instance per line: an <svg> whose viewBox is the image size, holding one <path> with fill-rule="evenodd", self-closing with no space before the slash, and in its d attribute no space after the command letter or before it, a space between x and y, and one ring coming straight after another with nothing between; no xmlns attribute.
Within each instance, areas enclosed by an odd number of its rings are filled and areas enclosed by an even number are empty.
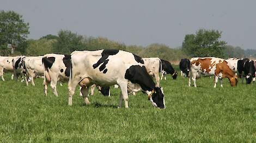
<svg viewBox="0 0 256 143"><path fill-rule="evenodd" d="M26 70L23 68L23 59L25 59L26 56L17 56L14 57L14 59L11 61L13 64L13 72L15 80L17 81L19 77L21 76L21 81L23 81L24 77L26 79Z"/></svg>

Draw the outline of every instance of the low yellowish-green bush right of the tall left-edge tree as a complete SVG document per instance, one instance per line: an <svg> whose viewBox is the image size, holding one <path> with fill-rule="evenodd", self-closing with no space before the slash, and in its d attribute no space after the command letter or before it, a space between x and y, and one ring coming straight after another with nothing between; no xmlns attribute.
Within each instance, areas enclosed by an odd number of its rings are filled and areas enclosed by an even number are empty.
<svg viewBox="0 0 256 143"><path fill-rule="evenodd" d="M26 48L26 55L39 56L53 53L53 44L56 43L57 40L47 40L46 38L40 38L40 40L28 40L27 42L28 46Z"/></svg>

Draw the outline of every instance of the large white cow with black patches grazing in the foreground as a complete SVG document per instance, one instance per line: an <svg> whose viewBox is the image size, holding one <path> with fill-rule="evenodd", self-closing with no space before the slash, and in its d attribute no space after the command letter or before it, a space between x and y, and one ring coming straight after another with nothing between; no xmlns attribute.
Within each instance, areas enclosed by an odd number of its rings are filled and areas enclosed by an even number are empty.
<svg viewBox="0 0 256 143"><path fill-rule="evenodd" d="M121 50L76 51L71 54L71 72L69 80L69 105L79 84L84 101L89 104L88 88L119 85L121 89L119 107L124 100L128 108L127 85L131 81L138 84L148 94L153 106L165 108L162 88L156 87L148 74L141 57ZM129 91L128 91L129 92Z"/></svg>

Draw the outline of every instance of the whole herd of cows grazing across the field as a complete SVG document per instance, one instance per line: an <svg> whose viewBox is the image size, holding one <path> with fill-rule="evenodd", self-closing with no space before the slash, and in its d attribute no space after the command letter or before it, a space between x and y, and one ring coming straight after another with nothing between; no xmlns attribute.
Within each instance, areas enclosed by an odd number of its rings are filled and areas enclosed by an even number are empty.
<svg viewBox="0 0 256 143"><path fill-rule="evenodd" d="M216 57L193 57L191 60L180 61L182 76L188 77L188 86L200 75L215 77L215 84L222 78L227 77L231 86L237 84L237 74L245 77L246 83L255 79L255 62L249 59L220 59ZM91 94L95 87L100 89L103 95L110 95L109 86L120 87L119 106L124 101L128 108L128 95L142 90L148 95L148 100L154 107L166 108L163 88L160 87L160 79L166 80L166 74L176 79L175 72L170 62L158 57L141 58L135 54L121 50L96 50L74 51L71 55L46 54L44 56L16 56L0 57L0 76L4 81L3 73L13 72L12 79L29 82L35 86L34 79L44 79L43 89L47 95L48 85L53 89L53 94L58 96L57 84L68 82L69 99L72 105L72 96L75 89L80 86L80 95L84 102L89 104L88 91ZM159 76L161 73L161 78ZM156 83L153 81L155 78ZM243 78L242 78L243 79ZM242 80L243 81L243 80ZM255 80L254 80L255 81Z"/></svg>

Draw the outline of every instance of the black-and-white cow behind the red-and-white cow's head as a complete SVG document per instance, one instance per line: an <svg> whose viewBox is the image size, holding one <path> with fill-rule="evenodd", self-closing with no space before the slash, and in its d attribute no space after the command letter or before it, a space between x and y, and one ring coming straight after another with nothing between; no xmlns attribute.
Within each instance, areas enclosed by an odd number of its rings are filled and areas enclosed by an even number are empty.
<svg viewBox="0 0 256 143"><path fill-rule="evenodd" d="M249 59L237 58L229 58L226 61L228 62L229 68L234 73L238 73L238 76L241 78L242 83L244 77L246 77L247 84L252 82L252 79L255 77L254 61Z"/></svg>

